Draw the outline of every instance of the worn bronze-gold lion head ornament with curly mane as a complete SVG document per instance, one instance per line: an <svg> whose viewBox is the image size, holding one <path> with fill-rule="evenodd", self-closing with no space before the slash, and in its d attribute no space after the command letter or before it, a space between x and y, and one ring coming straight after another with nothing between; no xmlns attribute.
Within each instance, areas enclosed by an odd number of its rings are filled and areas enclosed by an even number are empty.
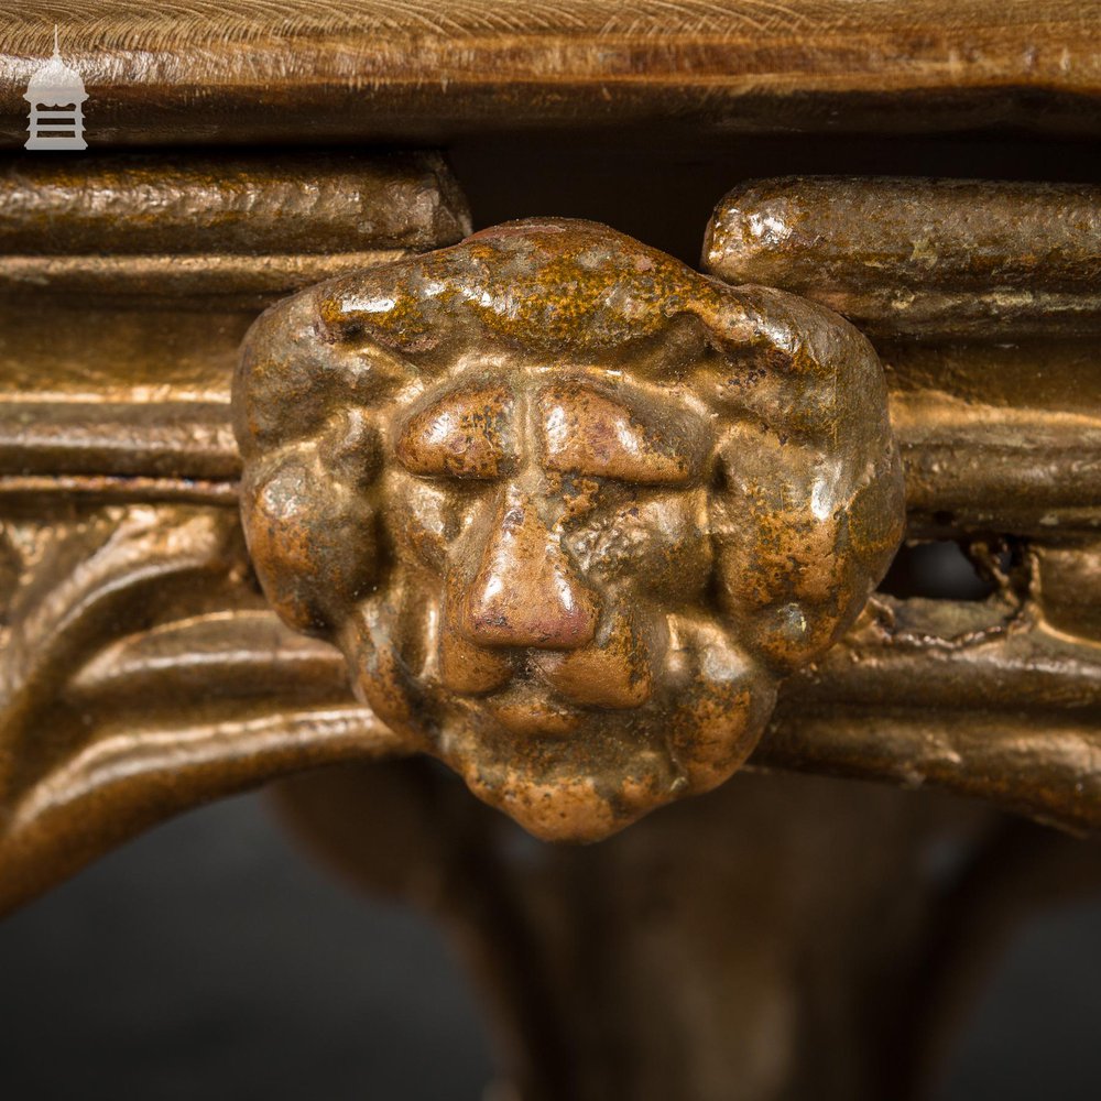
<svg viewBox="0 0 1101 1101"><path fill-rule="evenodd" d="M501 226L280 303L235 413L280 615L547 839L728 777L902 534L854 328L589 222Z"/></svg>

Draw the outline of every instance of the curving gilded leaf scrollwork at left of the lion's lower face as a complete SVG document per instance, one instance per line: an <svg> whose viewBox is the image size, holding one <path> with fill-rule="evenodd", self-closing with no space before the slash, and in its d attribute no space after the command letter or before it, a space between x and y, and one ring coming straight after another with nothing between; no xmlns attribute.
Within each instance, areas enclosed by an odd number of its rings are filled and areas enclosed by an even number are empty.
<svg viewBox="0 0 1101 1101"><path fill-rule="evenodd" d="M0 520L0 911L164 817L401 751L247 577L236 510Z"/></svg>

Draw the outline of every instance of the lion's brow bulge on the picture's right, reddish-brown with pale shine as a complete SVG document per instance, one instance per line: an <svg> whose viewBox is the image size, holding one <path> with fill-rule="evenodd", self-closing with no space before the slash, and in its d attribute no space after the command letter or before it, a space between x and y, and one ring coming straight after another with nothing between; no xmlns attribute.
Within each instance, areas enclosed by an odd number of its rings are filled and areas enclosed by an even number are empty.
<svg viewBox="0 0 1101 1101"><path fill-rule="evenodd" d="M693 477L680 433L646 425L590 390L548 388L542 429L548 470L642 486L684 484Z"/></svg>

